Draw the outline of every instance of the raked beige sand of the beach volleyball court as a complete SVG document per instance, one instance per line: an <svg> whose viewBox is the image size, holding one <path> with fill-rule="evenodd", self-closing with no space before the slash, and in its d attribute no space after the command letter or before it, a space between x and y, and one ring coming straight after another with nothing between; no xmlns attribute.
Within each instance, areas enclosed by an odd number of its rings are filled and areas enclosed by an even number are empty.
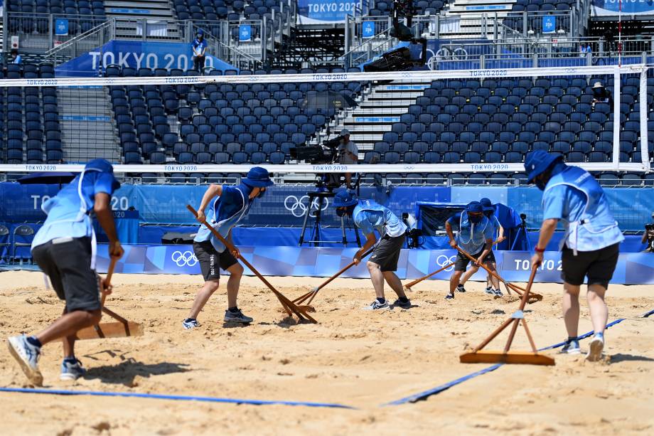
<svg viewBox="0 0 654 436"><path fill-rule="evenodd" d="M287 297L321 279L272 277ZM419 403L383 406L486 368L461 364L475 346L515 311L515 299L493 299L471 283L454 302L446 282L415 287L410 310L362 310L374 298L369 280L336 280L314 305L319 324L284 321L279 304L256 278L246 277L240 307L250 326L223 326L224 288L200 314L200 328L182 329L199 277L116 275L107 305L144 324L139 338L80 341L88 369L76 383L59 381L59 344L41 359L45 388L203 395L257 400L340 403L357 408L230 405L195 401L0 393L1 434L240 434L294 435L569 435L654 432L654 288L611 286L606 333L611 361L555 356L557 365L502 366ZM535 285L545 296L527 307L537 346L565 337L560 285ZM388 294L387 294L388 295ZM580 332L591 325L582 301ZM0 335L34 333L63 304L36 272L0 273ZM503 346L505 335L491 344ZM588 341L581 344L585 351ZM514 349L527 349L519 331ZM551 352L554 355L554 352ZM27 387L0 348L0 386ZM447 433L446 433L447 432Z"/></svg>

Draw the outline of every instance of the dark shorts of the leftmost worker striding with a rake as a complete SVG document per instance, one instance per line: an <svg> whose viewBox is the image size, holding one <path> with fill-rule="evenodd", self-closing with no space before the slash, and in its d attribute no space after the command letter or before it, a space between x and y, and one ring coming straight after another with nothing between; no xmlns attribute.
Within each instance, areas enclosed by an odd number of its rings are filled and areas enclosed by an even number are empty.
<svg viewBox="0 0 654 436"><path fill-rule="evenodd" d="M91 269L91 238L56 238L32 249L66 312L100 309L100 277Z"/></svg>

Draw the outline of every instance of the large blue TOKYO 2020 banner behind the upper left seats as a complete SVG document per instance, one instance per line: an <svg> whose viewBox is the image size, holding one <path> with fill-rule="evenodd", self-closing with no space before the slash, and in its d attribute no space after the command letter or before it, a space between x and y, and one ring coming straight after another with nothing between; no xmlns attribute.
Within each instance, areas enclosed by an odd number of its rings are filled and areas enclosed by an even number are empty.
<svg viewBox="0 0 654 436"><path fill-rule="evenodd" d="M150 43L145 41L109 41L97 48L55 68L58 77L97 76L97 70L107 65L132 68L193 68L191 43ZM217 70L236 68L207 54L206 67Z"/></svg>

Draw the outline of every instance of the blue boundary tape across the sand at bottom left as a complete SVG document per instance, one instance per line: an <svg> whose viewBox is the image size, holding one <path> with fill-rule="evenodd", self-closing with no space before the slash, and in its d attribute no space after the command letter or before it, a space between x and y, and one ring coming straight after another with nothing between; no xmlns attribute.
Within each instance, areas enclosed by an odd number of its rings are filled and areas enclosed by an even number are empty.
<svg viewBox="0 0 654 436"><path fill-rule="evenodd" d="M195 395L161 395L155 393L134 392L102 392L97 390L64 390L64 389L31 389L31 388L0 388L0 392L14 393L44 393L50 395L92 395L95 397L128 397L151 398L155 400L182 400L203 401L205 403L229 403L250 405L304 405L309 408L338 408L355 409L349 405L337 403L312 403L311 401L285 401L285 400L245 400L240 398L200 397Z"/></svg>

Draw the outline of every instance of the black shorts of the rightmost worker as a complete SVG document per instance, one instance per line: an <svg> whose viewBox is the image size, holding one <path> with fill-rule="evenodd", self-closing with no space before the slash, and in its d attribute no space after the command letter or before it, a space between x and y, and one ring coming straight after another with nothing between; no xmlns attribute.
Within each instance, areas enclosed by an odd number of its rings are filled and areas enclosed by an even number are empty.
<svg viewBox="0 0 654 436"><path fill-rule="evenodd" d="M609 245L594 251L574 251L565 246L561 254L561 278L570 285L584 285L584 278L588 277L589 285L609 287L613 271L618 264L620 244Z"/></svg>

